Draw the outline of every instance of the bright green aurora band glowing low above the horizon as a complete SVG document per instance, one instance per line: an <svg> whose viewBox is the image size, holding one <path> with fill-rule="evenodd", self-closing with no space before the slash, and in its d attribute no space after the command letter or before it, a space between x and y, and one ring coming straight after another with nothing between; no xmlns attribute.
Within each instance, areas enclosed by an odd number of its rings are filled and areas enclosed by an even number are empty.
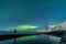
<svg viewBox="0 0 66 44"><path fill-rule="evenodd" d="M18 26L13 26L13 28L8 28L7 30L30 30L30 29L37 29L40 26L37 25L18 25Z"/></svg>

